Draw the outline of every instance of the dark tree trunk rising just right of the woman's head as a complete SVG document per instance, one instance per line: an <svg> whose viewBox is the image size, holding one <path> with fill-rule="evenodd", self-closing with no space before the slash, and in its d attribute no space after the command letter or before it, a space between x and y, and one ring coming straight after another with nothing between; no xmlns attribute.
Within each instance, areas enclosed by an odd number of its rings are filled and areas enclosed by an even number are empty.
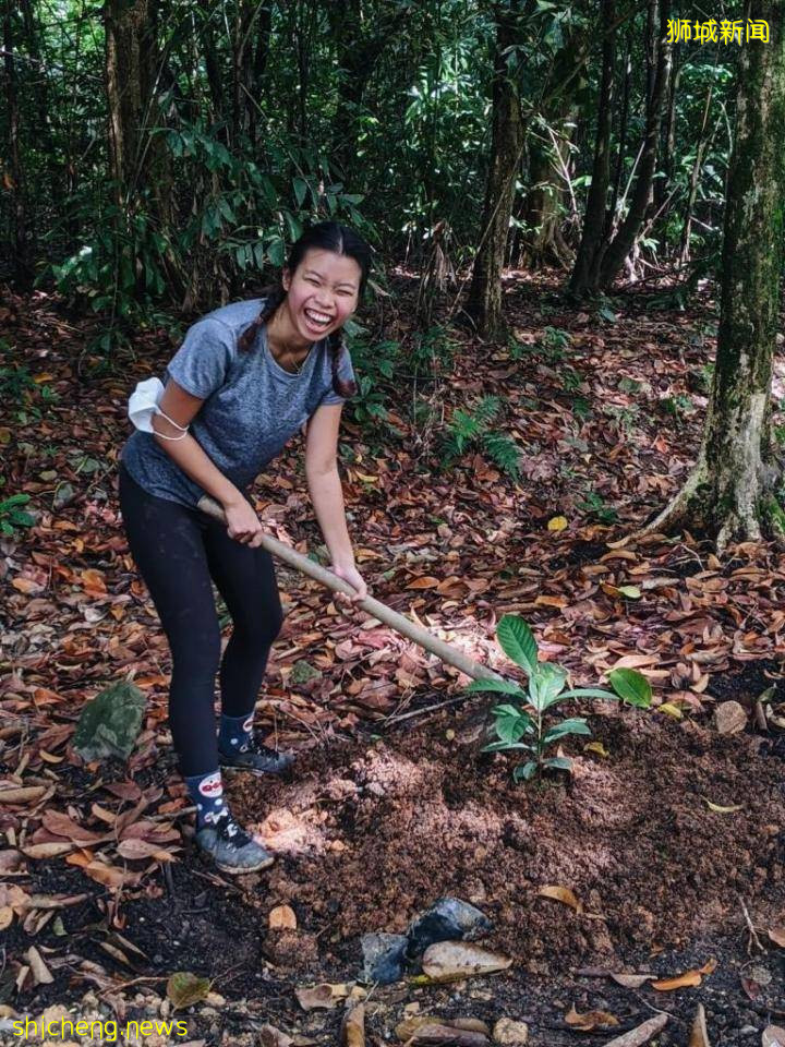
<svg viewBox="0 0 785 1047"><path fill-rule="evenodd" d="M466 304L466 312L483 338L502 338L506 332L502 314L502 269L522 154L523 121L505 50L520 40L520 16L521 3L512 0L507 11L498 11L496 21L491 166L485 183L481 241Z"/></svg>

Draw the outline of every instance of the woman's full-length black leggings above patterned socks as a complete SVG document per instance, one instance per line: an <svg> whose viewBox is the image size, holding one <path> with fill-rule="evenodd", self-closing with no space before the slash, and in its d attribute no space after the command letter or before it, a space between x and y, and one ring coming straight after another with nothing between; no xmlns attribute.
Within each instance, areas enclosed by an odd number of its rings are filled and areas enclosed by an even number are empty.
<svg viewBox="0 0 785 1047"><path fill-rule="evenodd" d="M180 770L203 774L218 767L213 702L219 662L221 711L247 715L283 622L273 557L229 538L198 509L148 494L122 464L119 471L131 554L171 649L169 725ZM233 623L222 660L210 578Z"/></svg>

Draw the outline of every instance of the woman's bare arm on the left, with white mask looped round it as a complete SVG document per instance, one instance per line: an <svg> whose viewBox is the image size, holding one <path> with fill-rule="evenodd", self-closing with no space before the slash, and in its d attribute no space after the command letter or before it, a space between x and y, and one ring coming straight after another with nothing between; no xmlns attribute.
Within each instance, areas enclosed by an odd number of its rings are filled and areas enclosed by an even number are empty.
<svg viewBox="0 0 785 1047"><path fill-rule="evenodd" d="M203 404L203 399L186 393L177 382L169 378L158 406L173 422L184 428L191 424ZM198 441L190 433L181 440L166 440L167 436L180 436L181 434L160 414L153 416L152 424L158 446L166 450L172 461L177 462L188 477L224 506L227 514L229 537L257 546L263 528L253 506L249 504L231 480L224 476L202 448ZM157 435L159 433L162 433L164 437Z"/></svg>

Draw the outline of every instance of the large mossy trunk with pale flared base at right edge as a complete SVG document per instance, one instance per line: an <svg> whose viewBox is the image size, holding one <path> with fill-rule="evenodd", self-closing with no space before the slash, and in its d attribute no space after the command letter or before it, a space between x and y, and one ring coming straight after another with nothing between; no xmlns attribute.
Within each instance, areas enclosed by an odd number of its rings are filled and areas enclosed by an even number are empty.
<svg viewBox="0 0 785 1047"><path fill-rule="evenodd" d="M735 144L725 209L717 356L698 461L674 501L641 533L686 526L757 541L764 525L782 540L773 493L781 469L771 436L771 380L783 267L785 32L783 0L747 0L770 43L739 51Z"/></svg>

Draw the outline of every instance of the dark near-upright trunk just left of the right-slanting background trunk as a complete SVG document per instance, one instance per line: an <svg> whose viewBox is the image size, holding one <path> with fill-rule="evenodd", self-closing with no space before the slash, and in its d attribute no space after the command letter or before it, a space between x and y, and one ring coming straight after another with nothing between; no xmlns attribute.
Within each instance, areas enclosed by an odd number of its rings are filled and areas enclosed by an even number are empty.
<svg viewBox="0 0 785 1047"><path fill-rule="evenodd" d="M569 293L582 296L594 290L592 280L592 261L596 256L605 224L605 201L611 177L611 127L613 122L613 84L616 63L616 31L612 28L616 21L615 0L603 0L601 27L603 32L602 80L600 83L600 111L597 113L596 144L592 181L589 188L583 236L578 256L569 281Z"/></svg>

